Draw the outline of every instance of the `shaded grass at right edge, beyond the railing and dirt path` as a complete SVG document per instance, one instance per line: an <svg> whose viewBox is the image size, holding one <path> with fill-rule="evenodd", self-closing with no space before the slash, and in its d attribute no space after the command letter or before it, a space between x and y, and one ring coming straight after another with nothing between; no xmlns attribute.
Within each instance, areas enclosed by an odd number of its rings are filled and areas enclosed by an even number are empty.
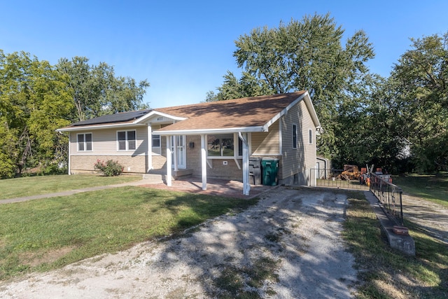
<svg viewBox="0 0 448 299"><path fill-rule="evenodd" d="M441 172L437 175L393 176L393 183L400 186L405 193L448 207L447 172Z"/></svg>

